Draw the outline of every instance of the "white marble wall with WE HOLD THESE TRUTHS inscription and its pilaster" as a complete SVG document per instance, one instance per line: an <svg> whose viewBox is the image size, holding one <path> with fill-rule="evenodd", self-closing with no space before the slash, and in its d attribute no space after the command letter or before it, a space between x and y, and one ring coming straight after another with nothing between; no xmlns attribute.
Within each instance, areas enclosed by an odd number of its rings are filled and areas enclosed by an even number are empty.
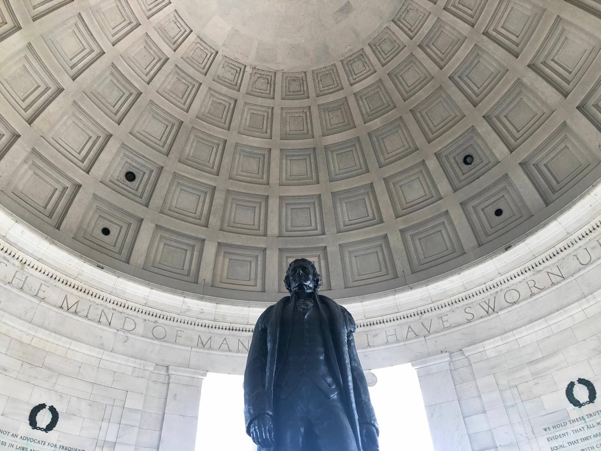
<svg viewBox="0 0 601 451"><path fill-rule="evenodd" d="M597 292L511 333L415 362L436 451L448 443L469 451L600 449L599 402L569 399L591 399L596 389L587 381L601 388L600 320Z"/></svg>

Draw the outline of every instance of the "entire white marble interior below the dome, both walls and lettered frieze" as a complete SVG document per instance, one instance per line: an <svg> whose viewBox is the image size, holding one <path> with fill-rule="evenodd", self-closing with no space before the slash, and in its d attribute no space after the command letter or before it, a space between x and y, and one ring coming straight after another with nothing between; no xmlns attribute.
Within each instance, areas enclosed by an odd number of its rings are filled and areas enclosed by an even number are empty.
<svg viewBox="0 0 601 451"><path fill-rule="evenodd" d="M444 280L341 300L365 369L413 362L436 451L601 448L600 198ZM194 450L204 376L243 370L262 308L126 280L2 211L0 237L0 449Z"/></svg>

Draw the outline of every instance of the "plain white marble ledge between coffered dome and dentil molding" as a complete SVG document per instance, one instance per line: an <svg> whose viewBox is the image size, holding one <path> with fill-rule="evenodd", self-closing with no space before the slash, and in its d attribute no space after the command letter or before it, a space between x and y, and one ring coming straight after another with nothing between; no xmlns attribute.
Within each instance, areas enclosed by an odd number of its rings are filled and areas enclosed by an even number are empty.
<svg viewBox="0 0 601 451"><path fill-rule="evenodd" d="M345 304L356 314L358 318L376 318L395 311L413 308L423 305L424 302L441 301L450 296L457 295L466 289L472 289L478 284L486 283L505 272L511 271L516 266L522 265L532 257L543 253L549 247L565 239L570 233L575 232L587 221L593 219L599 212L601 206L596 200L599 188L594 188L591 195L582 198L575 206L549 222L543 229L525 238L522 244L515 245L505 253L486 259L477 266L466 267L456 274L442 280L432 281L427 286L411 286L410 289L400 289L394 298L397 304L396 310L390 310L391 302L386 302L389 295L370 295L370 299L362 301L361 298L344 299ZM65 251L56 244L48 243L44 237L28 226L15 221L11 213L2 209L0 219L7 230L4 237L17 245L32 257L39 257L41 261L48 263L63 274L75 277L84 284L96 287L117 296L127 298L131 302L156 307L159 310L172 313L200 313L197 318L213 319L219 322L250 323L257 318L263 307L236 307L236 305L217 305L218 313L213 315L211 310L213 302L203 305L198 296L188 297L177 292L165 292L162 289L151 289L148 283L132 279L130 276L118 274L114 270L99 269L94 264L87 263L85 259L72 251ZM569 224L564 227L562 224ZM44 257L46 256L46 257ZM429 299L429 300L428 300ZM216 299L219 302L219 299ZM198 304L196 304L198 302ZM223 302L227 302L224 299ZM222 303L223 303L222 302ZM352 304L357 302L361 307L355 308ZM389 305L391 304L391 305ZM186 306L186 307L185 307ZM362 314L359 314L363 312ZM196 315L195 315L196 316ZM252 318L252 321L251 321Z"/></svg>

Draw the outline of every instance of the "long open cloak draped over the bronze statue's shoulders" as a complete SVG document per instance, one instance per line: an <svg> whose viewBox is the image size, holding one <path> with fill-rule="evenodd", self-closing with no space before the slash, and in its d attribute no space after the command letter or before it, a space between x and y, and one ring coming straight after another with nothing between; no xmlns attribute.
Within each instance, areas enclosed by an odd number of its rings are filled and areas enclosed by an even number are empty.
<svg viewBox="0 0 601 451"><path fill-rule="evenodd" d="M244 373L244 417L246 433L249 435L251 423L256 417L267 415L273 418L273 385L289 338L280 336L281 325L283 319L291 316L293 305L294 299L285 296L267 307L255 325ZM373 425L376 431L378 426L353 339L355 321L346 308L326 296L314 294L314 305L320 311L324 343L357 449L362 451L359 424ZM325 308L329 311L327 316Z"/></svg>

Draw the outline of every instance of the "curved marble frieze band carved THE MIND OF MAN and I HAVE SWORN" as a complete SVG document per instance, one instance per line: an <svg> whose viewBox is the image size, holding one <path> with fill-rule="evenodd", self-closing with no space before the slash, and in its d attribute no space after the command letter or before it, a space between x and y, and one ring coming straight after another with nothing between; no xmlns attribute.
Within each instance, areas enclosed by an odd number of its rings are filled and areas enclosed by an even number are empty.
<svg viewBox="0 0 601 451"><path fill-rule="evenodd" d="M566 239L542 257L462 296L401 314L358 319L357 347L375 348L431 336L485 318L544 293L601 259L601 239L597 236L599 225L599 222L590 223L578 235ZM37 265L35 260L29 260L27 265L23 265L29 257L20 254L6 242L0 241L0 244L5 251L0 257L0 281L5 284L3 289L18 289L31 295L35 302L43 301L79 318L151 340L214 352L248 352L252 331L250 325L205 321L206 327L199 327L197 321L190 321L191 317L188 317L189 320L178 319L178 315L171 316L160 310L152 313L152 307L136 307L137 304L133 302L120 301L106 305L103 302L105 296L99 296L100 292L94 296L82 296L82 286L66 277L61 281L63 286L57 286L55 274L40 270L44 266L42 263ZM17 262L18 266L15 264ZM351 309L352 304L346 305ZM13 306L0 303L0 308L11 313ZM141 318L141 311L150 318Z"/></svg>

